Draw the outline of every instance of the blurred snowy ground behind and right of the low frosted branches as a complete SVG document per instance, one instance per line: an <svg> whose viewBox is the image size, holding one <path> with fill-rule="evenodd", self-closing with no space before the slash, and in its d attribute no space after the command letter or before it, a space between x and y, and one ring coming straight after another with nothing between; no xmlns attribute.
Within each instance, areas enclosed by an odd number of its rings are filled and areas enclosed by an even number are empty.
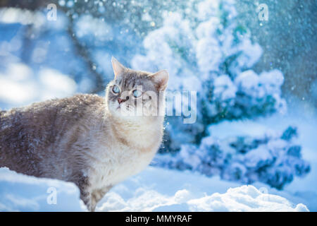
<svg viewBox="0 0 317 226"><path fill-rule="evenodd" d="M302 146L303 159L311 165L311 171L305 177L294 177L294 181L282 191L272 189L273 194L282 195L290 201L302 202L309 210L317 211L317 120L311 110L297 103L289 107L286 115L275 114L272 117L242 121L224 121L211 126L210 132L218 138L226 136L259 136L267 131L282 131L288 125L297 126L299 136L296 142ZM230 128L230 129L229 129ZM258 187L260 184L253 184Z"/></svg>

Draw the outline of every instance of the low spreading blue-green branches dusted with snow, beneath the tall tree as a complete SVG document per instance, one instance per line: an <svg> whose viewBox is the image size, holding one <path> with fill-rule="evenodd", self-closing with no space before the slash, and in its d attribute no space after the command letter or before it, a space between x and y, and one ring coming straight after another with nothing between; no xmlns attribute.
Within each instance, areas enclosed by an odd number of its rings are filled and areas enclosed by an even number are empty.
<svg viewBox="0 0 317 226"><path fill-rule="evenodd" d="M244 124L240 126L245 127ZM225 130L230 127L227 124ZM209 131L212 128L210 126ZM228 136L230 133L226 131L223 133ZM283 133L264 130L261 136L236 135L225 138L218 138L221 134L211 131L200 145L183 144L179 153L156 155L153 165L190 169L209 177L220 175L222 179L242 184L263 182L283 189L294 177L304 177L311 169L309 161L302 159L301 146L292 141L296 134L295 127L288 127Z"/></svg>

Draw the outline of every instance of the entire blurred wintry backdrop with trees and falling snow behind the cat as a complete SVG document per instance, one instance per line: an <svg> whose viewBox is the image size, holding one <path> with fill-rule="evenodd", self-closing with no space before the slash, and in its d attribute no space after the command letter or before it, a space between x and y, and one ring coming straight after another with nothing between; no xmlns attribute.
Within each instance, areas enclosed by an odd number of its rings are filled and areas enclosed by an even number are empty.
<svg viewBox="0 0 317 226"><path fill-rule="evenodd" d="M1 0L0 108L104 95L111 56L168 69L168 91L197 92L197 121L167 117L151 165L263 182L317 210L316 10L297 0Z"/></svg>

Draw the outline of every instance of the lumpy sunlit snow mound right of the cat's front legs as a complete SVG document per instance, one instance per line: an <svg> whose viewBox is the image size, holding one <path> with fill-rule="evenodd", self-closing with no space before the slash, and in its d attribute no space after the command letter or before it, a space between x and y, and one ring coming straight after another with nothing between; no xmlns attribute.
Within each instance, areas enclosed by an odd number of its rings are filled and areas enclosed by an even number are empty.
<svg viewBox="0 0 317 226"><path fill-rule="evenodd" d="M222 194L220 194L220 193ZM185 171L147 167L115 186L97 211L309 211L263 187Z"/></svg>

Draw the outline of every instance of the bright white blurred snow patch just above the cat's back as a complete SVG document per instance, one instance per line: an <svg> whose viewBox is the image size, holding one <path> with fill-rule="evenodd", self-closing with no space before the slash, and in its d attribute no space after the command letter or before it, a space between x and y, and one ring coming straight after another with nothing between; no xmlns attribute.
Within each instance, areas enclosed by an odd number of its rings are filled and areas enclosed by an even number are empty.
<svg viewBox="0 0 317 226"><path fill-rule="evenodd" d="M33 71L23 63L0 71L0 102L11 108L32 102L73 95L77 85L70 76L49 68Z"/></svg>

